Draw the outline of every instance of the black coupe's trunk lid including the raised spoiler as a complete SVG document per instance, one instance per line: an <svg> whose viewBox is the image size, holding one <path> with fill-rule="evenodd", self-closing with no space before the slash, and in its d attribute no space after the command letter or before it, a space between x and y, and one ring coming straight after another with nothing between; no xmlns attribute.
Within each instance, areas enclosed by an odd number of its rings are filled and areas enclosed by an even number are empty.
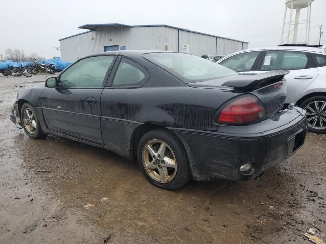
<svg viewBox="0 0 326 244"><path fill-rule="evenodd" d="M286 81L284 76L289 71L274 70L262 74L241 74L195 83L188 83L194 88L226 89L239 94L253 94L265 107L267 117L273 118L284 106Z"/></svg>

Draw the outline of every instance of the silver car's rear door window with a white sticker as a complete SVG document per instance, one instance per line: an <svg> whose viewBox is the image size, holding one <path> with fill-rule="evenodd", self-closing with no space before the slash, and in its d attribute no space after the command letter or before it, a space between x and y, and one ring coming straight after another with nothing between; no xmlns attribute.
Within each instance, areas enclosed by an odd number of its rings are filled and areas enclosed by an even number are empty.
<svg viewBox="0 0 326 244"><path fill-rule="evenodd" d="M267 51L261 70L299 70L310 68L305 52Z"/></svg>

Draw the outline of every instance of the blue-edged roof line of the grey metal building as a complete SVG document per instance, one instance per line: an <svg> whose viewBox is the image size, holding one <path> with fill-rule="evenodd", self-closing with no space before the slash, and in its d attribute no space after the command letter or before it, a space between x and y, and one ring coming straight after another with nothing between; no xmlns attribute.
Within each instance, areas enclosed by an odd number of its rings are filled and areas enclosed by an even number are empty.
<svg viewBox="0 0 326 244"><path fill-rule="evenodd" d="M166 25L166 24L151 24L151 25L127 25L127 24L119 24L119 23L110 23L110 24L84 24L82 26L79 26L78 29L88 29L89 30L88 32L90 32L90 31L95 31L96 29L102 29L102 28L108 28L108 27L111 27L111 28L118 28L118 27L119 28L121 28L121 27L126 27L126 28L137 28L137 27L168 27L168 28L178 29L180 31L192 32L192 33L202 34L202 35L216 37L216 38L223 38L223 39L237 41L237 42L249 43L249 42L240 41L240 40L236 40L236 39L232 39L232 38L215 36L215 35L211 35L211 34L207 34L207 33L191 31L190 29L178 28L178 27L171 26L171 25ZM64 40L64 39L67 39L67 38L70 38L70 37L82 35L84 33L87 33L87 32L78 33L78 34L75 34L75 35L72 35L72 36L69 36L69 37L64 37L64 38L59 39L59 41Z"/></svg>

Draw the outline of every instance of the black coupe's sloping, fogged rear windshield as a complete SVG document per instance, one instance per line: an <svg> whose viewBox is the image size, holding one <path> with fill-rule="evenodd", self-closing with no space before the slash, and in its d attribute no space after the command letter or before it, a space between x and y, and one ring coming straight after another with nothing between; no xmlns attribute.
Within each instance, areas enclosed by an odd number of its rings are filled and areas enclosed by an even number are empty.
<svg viewBox="0 0 326 244"><path fill-rule="evenodd" d="M144 57L180 77L186 83L239 74L227 67L191 54L159 52L147 53Z"/></svg>

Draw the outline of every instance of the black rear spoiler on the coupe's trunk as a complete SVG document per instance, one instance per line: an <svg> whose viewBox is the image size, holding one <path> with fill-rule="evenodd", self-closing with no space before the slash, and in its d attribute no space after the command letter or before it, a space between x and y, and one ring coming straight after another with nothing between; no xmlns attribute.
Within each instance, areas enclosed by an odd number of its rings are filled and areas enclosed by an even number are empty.
<svg viewBox="0 0 326 244"><path fill-rule="evenodd" d="M239 92L251 92L267 85L282 81L283 77L290 73L288 70L273 70L262 74L237 75L224 82L222 86L233 87Z"/></svg>

